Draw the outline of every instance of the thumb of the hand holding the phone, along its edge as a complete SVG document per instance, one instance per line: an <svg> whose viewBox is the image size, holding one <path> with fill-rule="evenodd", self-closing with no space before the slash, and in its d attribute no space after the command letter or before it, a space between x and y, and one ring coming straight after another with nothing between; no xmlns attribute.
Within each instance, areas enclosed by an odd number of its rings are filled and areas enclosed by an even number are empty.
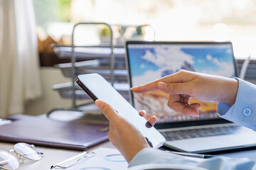
<svg viewBox="0 0 256 170"><path fill-rule="evenodd" d="M110 122L114 125L115 123L119 123L119 119L121 118L117 112L112 108L109 104L105 103L100 99L95 101L96 106L100 109L100 111L105 115L105 117L110 120Z"/></svg>

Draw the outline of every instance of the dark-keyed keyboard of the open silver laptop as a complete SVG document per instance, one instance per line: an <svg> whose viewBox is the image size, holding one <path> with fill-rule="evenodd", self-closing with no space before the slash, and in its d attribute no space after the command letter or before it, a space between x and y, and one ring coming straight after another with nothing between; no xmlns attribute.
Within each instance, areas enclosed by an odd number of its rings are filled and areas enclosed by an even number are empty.
<svg viewBox="0 0 256 170"><path fill-rule="evenodd" d="M225 127L215 127L215 128L200 128L200 129L190 129L190 130L177 130L177 131L167 131L161 132L167 141L171 140L185 140L194 137L210 137L216 135L230 135L238 132L240 126L225 126Z"/></svg>

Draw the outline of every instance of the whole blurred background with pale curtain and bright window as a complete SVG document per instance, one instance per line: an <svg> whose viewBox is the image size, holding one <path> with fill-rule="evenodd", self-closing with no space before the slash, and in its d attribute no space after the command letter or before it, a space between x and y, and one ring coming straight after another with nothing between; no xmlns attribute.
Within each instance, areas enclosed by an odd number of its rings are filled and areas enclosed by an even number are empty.
<svg viewBox="0 0 256 170"><path fill-rule="evenodd" d="M241 67L256 51L255 16L255 0L0 0L0 118L72 106L59 94L72 79L58 64L70 55L55 47L71 45L76 23L110 24L122 47L126 40L231 41ZM104 45L110 29L81 26L74 36L75 45Z"/></svg>

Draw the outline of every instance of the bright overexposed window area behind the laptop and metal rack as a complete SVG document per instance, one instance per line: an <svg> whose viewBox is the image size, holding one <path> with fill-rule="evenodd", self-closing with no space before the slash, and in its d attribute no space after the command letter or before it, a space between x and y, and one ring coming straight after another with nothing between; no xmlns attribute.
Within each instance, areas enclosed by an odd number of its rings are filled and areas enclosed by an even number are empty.
<svg viewBox="0 0 256 170"><path fill-rule="evenodd" d="M74 23L94 21L149 24L156 40L231 40L235 57L247 57L256 43L253 0L33 0L33 5L42 40L46 35L67 40Z"/></svg>

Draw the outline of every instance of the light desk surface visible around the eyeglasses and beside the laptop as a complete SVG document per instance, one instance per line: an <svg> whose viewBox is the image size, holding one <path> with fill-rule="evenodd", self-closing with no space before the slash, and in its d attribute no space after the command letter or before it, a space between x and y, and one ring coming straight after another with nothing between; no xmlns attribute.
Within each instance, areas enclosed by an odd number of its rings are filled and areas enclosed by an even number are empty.
<svg viewBox="0 0 256 170"><path fill-rule="evenodd" d="M10 149L13 149L14 144L13 143L6 143L6 142L0 142L0 149L9 151ZM90 149L95 149L97 147L109 147L113 148L114 146L109 142L103 142L100 145L97 145L95 147L92 147ZM50 169L50 166L53 164L57 164L59 162L62 162L65 159L68 159L70 157L73 157L77 154L80 154L81 151L75 151L71 149L57 149L57 148L51 148L51 147L36 147L39 152L43 152L43 159L41 159L38 162L24 162L20 165L18 170L46 170ZM216 153L216 155L221 155L225 157L230 158L242 158L247 157L252 160L256 160L256 149L248 149L248 150L239 150L238 152L226 152L226 153Z"/></svg>

